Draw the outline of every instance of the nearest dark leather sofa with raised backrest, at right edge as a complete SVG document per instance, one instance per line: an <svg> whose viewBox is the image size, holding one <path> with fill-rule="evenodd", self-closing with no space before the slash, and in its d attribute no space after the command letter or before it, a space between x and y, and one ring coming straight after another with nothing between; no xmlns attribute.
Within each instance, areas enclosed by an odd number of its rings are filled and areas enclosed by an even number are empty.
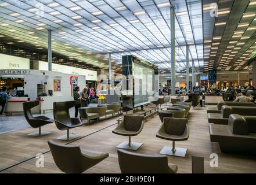
<svg viewBox="0 0 256 185"><path fill-rule="evenodd" d="M210 124L211 142L223 153L256 156L256 116L230 114L228 125Z"/></svg>

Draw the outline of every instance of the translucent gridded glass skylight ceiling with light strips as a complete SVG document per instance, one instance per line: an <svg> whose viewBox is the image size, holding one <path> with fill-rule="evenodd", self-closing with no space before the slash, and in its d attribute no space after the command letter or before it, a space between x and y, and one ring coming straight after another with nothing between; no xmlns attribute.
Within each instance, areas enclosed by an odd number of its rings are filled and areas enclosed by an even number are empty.
<svg viewBox="0 0 256 185"><path fill-rule="evenodd" d="M108 65L134 54L171 69L170 3L175 6L176 68L185 72L189 61L203 71L202 5L198 0L12 0L0 1L0 35L11 42L47 49L52 30L53 52L93 64ZM1 38L0 38L1 39ZM23 42L24 41L24 42ZM120 69L120 65L113 65Z"/></svg>

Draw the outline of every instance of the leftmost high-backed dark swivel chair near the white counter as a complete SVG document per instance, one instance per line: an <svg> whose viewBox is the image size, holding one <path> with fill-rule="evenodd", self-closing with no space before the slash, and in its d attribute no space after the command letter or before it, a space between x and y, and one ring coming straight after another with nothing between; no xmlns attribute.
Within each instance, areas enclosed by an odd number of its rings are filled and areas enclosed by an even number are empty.
<svg viewBox="0 0 256 185"><path fill-rule="evenodd" d="M38 105L39 105L38 100L23 103L23 112L28 124L30 124L30 126L33 128L39 128L39 132L33 132L31 134L28 134L31 136L42 136L42 135L52 133L49 131L41 131L41 127L46 124L53 123L54 121L53 119L50 119L49 117L45 117L45 116L33 116L33 114L31 113L31 109Z"/></svg>

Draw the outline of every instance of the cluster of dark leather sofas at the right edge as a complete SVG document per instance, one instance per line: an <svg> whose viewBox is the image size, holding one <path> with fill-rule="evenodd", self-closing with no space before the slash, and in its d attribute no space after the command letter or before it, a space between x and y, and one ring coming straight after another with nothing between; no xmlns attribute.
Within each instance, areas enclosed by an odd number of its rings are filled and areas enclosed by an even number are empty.
<svg viewBox="0 0 256 185"><path fill-rule="evenodd" d="M256 156L254 103L218 102L217 108L207 112L211 142L217 142L223 153Z"/></svg>

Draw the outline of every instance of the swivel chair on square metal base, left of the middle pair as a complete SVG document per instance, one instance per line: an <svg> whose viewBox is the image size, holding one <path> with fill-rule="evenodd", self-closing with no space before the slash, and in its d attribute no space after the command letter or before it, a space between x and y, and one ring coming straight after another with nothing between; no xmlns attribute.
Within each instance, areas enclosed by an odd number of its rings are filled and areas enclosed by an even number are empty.
<svg viewBox="0 0 256 185"><path fill-rule="evenodd" d="M138 135L142 131L143 119L143 116L124 115L124 120L112 132L117 135L128 136L129 142L124 141L117 148L138 150L143 145L143 143L131 142L131 136Z"/></svg>

